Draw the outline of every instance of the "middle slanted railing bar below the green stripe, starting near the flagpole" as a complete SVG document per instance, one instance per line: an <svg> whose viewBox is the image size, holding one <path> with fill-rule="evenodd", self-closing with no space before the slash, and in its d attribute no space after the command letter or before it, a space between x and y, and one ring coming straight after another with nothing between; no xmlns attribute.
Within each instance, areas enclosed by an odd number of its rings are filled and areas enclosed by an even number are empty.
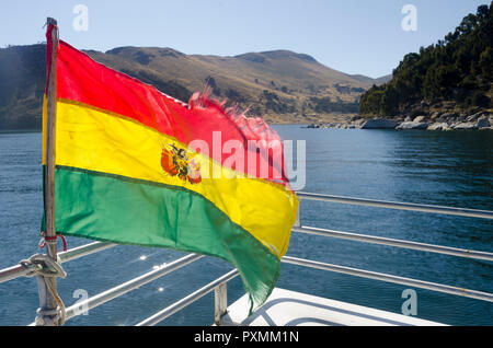
<svg viewBox="0 0 493 348"><path fill-rule="evenodd" d="M67 320L82 314L81 309L90 310L95 306L99 306L99 305L101 305L105 302L108 302L113 299L116 299L131 290L135 290L148 282L151 282L152 280L156 280L156 279L158 279L162 276L165 276L172 271L175 271L176 269L180 269L193 262L196 262L197 259L199 259L202 257L204 257L204 255L188 254L188 255L181 257L174 262L171 262L170 264L167 264L165 266L161 266L158 269L153 269L147 274L136 277L136 278L134 278L129 281L126 281L119 286L116 286L112 289L100 292L99 294L96 294L92 298L89 298L84 301L79 301L76 304L67 308L67 310L66 310Z"/></svg>

